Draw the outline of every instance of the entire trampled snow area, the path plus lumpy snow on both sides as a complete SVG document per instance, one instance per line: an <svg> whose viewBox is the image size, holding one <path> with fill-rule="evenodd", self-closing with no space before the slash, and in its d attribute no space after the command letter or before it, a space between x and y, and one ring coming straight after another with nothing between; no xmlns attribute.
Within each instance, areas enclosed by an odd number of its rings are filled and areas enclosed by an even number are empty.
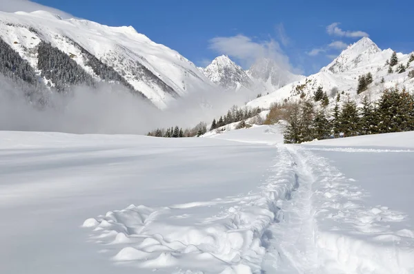
<svg viewBox="0 0 414 274"><path fill-rule="evenodd" d="M256 191L132 204L86 220L89 241L116 264L161 273L414 273L414 231L393 229L404 213L366 204L369 193L313 152L320 149L275 148L273 175Z"/></svg>

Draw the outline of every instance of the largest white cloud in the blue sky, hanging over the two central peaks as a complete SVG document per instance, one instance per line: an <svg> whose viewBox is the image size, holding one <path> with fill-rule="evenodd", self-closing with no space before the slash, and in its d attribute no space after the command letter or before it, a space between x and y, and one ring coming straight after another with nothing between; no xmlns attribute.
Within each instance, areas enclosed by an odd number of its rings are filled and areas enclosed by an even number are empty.
<svg viewBox="0 0 414 274"><path fill-rule="evenodd" d="M269 58L277 64L292 71L289 58L284 54L277 41L253 41L250 37L242 34L229 37L215 37L210 39L210 49L219 54L226 54L237 59L242 67L250 67L257 59Z"/></svg>

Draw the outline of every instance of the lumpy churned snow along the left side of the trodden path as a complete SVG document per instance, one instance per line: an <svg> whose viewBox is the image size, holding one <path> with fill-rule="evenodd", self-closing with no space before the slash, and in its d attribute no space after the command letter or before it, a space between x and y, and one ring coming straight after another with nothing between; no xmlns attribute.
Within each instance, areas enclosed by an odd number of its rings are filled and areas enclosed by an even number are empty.
<svg viewBox="0 0 414 274"><path fill-rule="evenodd" d="M259 273L268 227L277 220L277 202L290 198L297 187L290 154L277 147L277 155L275 174L244 196L162 208L130 205L90 218L83 226L92 229L90 240L102 244L102 252L111 246L115 262L203 273ZM210 215L212 208L217 215Z"/></svg>

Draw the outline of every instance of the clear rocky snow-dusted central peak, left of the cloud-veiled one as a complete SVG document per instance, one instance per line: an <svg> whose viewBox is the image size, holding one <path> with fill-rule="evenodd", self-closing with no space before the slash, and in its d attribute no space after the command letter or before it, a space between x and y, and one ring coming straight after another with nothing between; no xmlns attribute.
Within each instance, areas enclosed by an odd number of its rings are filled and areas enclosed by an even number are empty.
<svg viewBox="0 0 414 274"><path fill-rule="evenodd" d="M206 68L201 68L201 71L210 81L225 89L253 86L253 82L242 67L231 61L226 55L218 56Z"/></svg>

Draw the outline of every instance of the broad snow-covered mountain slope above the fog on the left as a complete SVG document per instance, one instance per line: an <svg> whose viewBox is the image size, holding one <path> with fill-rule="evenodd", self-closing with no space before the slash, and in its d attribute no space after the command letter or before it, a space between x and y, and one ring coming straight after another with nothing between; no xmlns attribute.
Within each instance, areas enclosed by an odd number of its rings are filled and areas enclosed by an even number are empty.
<svg viewBox="0 0 414 274"><path fill-rule="evenodd" d="M45 67L39 67L38 49L43 42L49 51L57 49L75 61L81 74L86 72L95 81L123 83L134 92L144 94L160 109L166 108L175 98L215 87L184 56L151 41L132 27L115 28L87 20L66 20L45 11L0 12L0 40L28 61L34 73L51 86L57 83L45 78ZM55 50L58 55L59 51ZM66 56L59 59L66 60ZM75 67L72 61L65 63Z"/></svg>

